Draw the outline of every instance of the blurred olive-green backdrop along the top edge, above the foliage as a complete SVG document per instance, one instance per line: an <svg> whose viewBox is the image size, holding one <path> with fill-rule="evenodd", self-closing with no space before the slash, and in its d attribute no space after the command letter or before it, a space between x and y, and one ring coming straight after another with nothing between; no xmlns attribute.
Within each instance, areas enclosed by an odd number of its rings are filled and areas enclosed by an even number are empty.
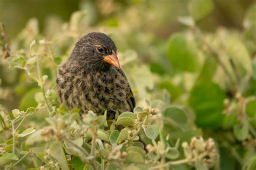
<svg viewBox="0 0 256 170"><path fill-rule="evenodd" d="M112 6L107 6L111 3ZM144 21L140 25L141 31L152 32L157 37L168 38L174 31L183 29L178 23L177 17L188 15L188 0L130 0L130 1L93 1L93 0L1 0L0 20L8 29L9 36L14 38L22 30L30 18L37 18L39 30L42 32L46 27L46 19L56 16L62 21L68 21L72 12L89 8L93 12L93 20L90 25L97 25L109 18L124 16L131 8L137 8ZM242 20L246 10L254 0L215 0L214 9L205 19L199 21L199 26L205 31L214 31L218 26L233 29L242 29ZM106 4L106 6L104 6ZM103 9L104 6L104 9ZM150 16L146 16L150 13ZM135 18L133 18L135 19Z"/></svg>

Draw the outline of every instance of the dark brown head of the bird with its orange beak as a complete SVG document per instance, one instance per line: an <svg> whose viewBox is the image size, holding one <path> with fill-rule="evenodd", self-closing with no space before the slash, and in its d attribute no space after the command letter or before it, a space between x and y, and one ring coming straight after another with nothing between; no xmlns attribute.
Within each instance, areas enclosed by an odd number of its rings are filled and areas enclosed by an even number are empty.
<svg viewBox="0 0 256 170"><path fill-rule="evenodd" d="M116 45L109 36L100 32L91 32L82 37L73 49L71 58L85 61L97 69L111 66L120 68Z"/></svg>

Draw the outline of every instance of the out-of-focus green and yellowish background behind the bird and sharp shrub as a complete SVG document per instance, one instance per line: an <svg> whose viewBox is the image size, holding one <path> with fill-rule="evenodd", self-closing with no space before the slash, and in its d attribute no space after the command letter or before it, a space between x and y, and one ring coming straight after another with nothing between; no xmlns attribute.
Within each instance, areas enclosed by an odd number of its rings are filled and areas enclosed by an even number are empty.
<svg viewBox="0 0 256 170"><path fill-rule="evenodd" d="M166 122L171 139L212 137L220 152L216 169L246 168L248 160L256 164L256 3L193 2L0 0L0 22L12 55L29 51L34 39L53 42L55 63L42 62L46 89L56 88L56 68L80 37L92 31L109 34L137 104L148 98L186 111L185 122L179 114L170 116L183 124L181 129ZM51 53L36 48L42 55ZM36 107L38 84L24 70L0 61L2 106L9 111Z"/></svg>

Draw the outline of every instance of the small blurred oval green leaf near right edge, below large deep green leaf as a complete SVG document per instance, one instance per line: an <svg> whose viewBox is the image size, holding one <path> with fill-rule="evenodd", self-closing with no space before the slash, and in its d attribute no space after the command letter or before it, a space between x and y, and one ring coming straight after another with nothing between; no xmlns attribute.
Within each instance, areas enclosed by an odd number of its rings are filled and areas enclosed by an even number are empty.
<svg viewBox="0 0 256 170"><path fill-rule="evenodd" d="M249 135L249 125L246 119L234 126L234 135L238 140L245 140Z"/></svg>

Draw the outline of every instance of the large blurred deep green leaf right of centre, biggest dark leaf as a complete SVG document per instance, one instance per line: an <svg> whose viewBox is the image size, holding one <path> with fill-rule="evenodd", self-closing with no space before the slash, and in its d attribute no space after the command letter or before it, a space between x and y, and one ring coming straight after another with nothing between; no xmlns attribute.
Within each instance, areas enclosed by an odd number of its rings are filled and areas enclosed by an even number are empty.
<svg viewBox="0 0 256 170"><path fill-rule="evenodd" d="M219 128L224 120L224 91L217 84L197 84L190 94L190 106L196 112L196 123L207 128Z"/></svg>

